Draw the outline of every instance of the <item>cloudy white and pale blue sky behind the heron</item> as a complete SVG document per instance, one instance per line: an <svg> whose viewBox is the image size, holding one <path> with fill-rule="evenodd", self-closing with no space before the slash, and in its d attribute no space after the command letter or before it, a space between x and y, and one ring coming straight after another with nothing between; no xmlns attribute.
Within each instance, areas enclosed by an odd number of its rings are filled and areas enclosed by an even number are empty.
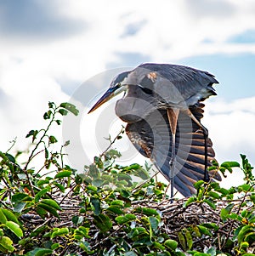
<svg viewBox="0 0 255 256"><path fill-rule="evenodd" d="M88 107L120 71L156 62L217 78L202 123L218 162L242 153L255 164L253 0L0 0L0 56L0 151L15 137L14 149L26 147L48 101L70 101L81 114L66 117L58 137L73 139L70 161L82 168L77 159L99 154L122 125L115 100L90 117ZM116 146L122 162L139 157L127 138Z"/></svg>

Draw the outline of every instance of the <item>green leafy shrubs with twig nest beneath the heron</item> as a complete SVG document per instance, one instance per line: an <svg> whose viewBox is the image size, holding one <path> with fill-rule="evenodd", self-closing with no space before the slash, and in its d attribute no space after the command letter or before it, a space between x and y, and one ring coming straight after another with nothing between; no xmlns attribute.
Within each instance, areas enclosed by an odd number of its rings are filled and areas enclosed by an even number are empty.
<svg viewBox="0 0 255 256"><path fill-rule="evenodd" d="M246 156L215 162L223 174L241 168L244 184L195 184L197 194L170 204L167 185L150 166L120 166L116 139L84 174L65 164L65 142L55 151L51 134L74 105L48 103L46 128L31 130L26 152L0 152L0 252L2 255L255 255L255 191ZM31 168L43 156L41 168ZM0 254L1 254L0 253ZM253 253L253 254L252 254Z"/></svg>

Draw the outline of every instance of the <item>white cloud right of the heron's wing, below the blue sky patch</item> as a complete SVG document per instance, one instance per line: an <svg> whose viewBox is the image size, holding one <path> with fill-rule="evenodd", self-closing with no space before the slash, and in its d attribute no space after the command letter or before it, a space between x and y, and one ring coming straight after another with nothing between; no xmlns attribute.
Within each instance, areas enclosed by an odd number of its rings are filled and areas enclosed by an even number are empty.
<svg viewBox="0 0 255 256"><path fill-rule="evenodd" d="M226 102L208 100L202 122L209 130L219 162L240 161L246 155L254 165L255 97Z"/></svg>

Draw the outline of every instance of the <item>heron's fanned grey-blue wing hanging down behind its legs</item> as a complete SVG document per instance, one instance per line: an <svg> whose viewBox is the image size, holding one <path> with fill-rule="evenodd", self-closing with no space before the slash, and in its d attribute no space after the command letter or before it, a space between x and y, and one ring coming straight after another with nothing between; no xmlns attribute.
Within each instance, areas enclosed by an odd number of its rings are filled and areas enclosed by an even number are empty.
<svg viewBox="0 0 255 256"><path fill-rule="evenodd" d="M190 107L190 111L201 120L203 104ZM170 181L170 157L172 135L167 119L167 111L159 110L146 120L127 123L126 133L136 149L156 165ZM205 175L205 139L198 125L190 117L180 112L176 133L176 162L173 174L174 187L184 196L195 193L194 183ZM207 166L212 165L215 153L212 141L207 139ZM216 172L210 172L211 179L221 180Z"/></svg>

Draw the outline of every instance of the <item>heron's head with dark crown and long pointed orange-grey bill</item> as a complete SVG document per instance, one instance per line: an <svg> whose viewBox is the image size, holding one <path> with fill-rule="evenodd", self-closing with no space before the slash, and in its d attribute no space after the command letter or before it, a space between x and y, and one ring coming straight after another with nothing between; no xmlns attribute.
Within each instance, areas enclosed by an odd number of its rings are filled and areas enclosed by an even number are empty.
<svg viewBox="0 0 255 256"><path fill-rule="evenodd" d="M111 82L110 88L103 94L103 96L96 102L96 104L88 111L88 114L95 111L99 108L100 105L103 105L111 98L115 97L117 94L121 94L123 91L127 90L127 84L130 83L130 75L132 71L122 72L121 74L117 75L113 81Z"/></svg>

